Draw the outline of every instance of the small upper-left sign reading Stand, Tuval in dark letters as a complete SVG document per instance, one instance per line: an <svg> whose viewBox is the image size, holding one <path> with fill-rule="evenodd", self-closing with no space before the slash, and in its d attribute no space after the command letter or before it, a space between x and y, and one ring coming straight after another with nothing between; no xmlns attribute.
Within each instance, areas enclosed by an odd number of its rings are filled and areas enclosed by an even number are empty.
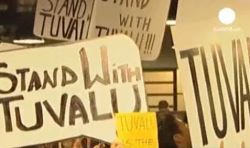
<svg viewBox="0 0 250 148"><path fill-rule="evenodd" d="M94 0L37 0L34 34L57 40L87 37Z"/></svg>

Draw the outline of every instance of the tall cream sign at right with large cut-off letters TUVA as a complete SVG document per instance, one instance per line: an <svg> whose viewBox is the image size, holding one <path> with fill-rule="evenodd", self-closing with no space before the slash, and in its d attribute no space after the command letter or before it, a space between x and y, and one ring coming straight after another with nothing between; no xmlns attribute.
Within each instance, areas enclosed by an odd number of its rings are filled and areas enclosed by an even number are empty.
<svg viewBox="0 0 250 148"><path fill-rule="evenodd" d="M250 23L245 9L250 3L196 2L180 1L177 18L182 23L173 28L192 145L250 147ZM204 9L194 13L187 5ZM236 13L230 25L217 17L224 7Z"/></svg>

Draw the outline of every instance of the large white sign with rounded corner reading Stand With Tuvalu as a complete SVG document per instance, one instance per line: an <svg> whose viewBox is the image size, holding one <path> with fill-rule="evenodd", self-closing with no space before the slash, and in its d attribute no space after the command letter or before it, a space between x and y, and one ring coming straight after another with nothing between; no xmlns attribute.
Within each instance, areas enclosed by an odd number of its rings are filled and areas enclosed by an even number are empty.
<svg viewBox="0 0 250 148"><path fill-rule="evenodd" d="M79 135L111 142L114 113L147 110L139 51L124 35L0 59L0 147Z"/></svg>

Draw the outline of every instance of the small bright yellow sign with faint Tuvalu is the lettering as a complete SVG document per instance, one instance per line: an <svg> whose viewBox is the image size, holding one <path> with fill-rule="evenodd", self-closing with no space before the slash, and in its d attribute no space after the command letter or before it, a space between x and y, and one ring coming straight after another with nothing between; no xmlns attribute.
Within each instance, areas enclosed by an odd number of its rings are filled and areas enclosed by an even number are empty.
<svg viewBox="0 0 250 148"><path fill-rule="evenodd" d="M115 118L124 148L158 148L155 113L118 113Z"/></svg>

